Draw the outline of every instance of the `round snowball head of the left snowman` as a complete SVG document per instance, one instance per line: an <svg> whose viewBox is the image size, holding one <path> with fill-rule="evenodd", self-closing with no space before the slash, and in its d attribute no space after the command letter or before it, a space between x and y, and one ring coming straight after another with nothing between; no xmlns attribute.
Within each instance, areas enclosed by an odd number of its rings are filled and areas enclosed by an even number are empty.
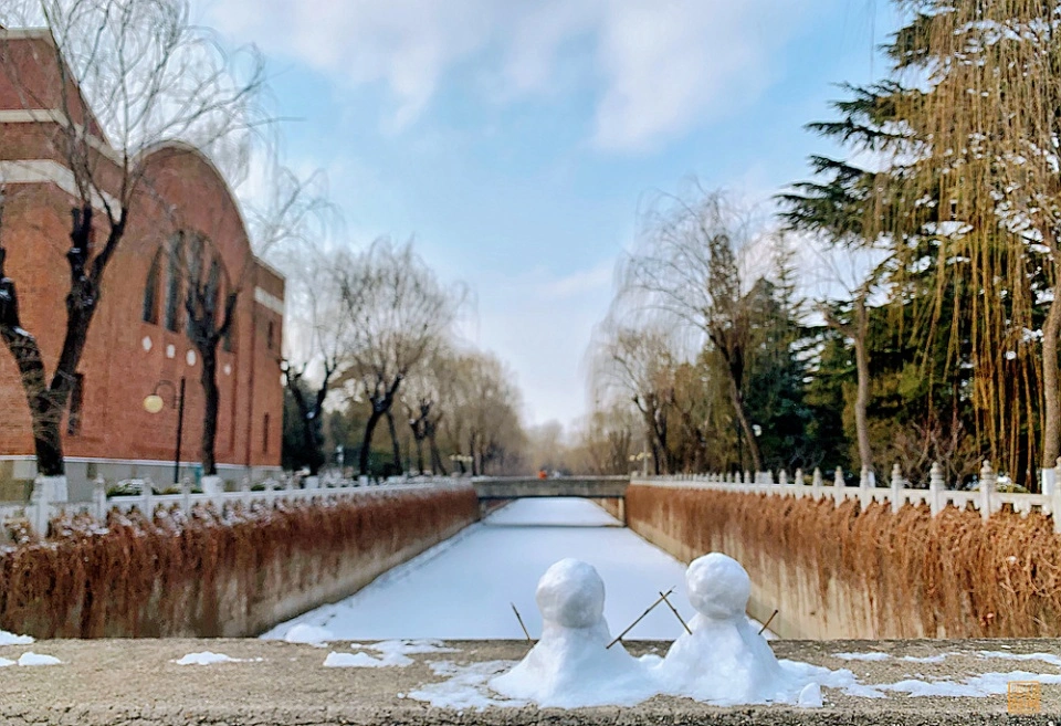
<svg viewBox="0 0 1061 726"><path fill-rule="evenodd" d="M545 622L588 628L605 614L605 582L592 565L568 557L545 571L534 599Z"/></svg>

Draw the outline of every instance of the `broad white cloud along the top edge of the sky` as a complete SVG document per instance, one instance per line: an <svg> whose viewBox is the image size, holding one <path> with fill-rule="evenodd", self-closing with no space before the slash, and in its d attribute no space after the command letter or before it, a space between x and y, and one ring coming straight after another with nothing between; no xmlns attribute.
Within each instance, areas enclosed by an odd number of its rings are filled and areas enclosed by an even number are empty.
<svg viewBox="0 0 1061 726"><path fill-rule="evenodd" d="M240 41L297 59L346 83L384 84L384 119L414 123L454 66L484 60L503 99L580 77L596 98L593 144L650 147L757 97L773 53L819 0L201 0ZM592 52L565 54L577 42ZM586 93L586 88L578 88Z"/></svg>

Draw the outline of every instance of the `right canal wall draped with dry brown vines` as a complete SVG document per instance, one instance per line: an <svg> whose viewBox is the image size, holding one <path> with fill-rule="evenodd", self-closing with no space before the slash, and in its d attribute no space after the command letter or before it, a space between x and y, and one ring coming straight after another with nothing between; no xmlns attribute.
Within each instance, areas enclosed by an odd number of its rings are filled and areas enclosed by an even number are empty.
<svg viewBox="0 0 1061 726"><path fill-rule="evenodd" d="M781 638L1061 635L1049 517L631 484L628 526L683 561L723 551Z"/></svg>

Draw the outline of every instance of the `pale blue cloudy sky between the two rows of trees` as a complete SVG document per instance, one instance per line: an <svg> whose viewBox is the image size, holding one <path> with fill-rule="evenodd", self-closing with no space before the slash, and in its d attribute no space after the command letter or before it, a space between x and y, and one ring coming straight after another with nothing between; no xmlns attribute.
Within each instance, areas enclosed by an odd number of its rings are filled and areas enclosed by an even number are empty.
<svg viewBox="0 0 1061 726"><path fill-rule="evenodd" d="M344 243L410 236L474 291L527 423L585 415L639 214L695 178L767 201L836 154L803 125L886 71L886 0L198 0L266 55L285 157Z"/></svg>

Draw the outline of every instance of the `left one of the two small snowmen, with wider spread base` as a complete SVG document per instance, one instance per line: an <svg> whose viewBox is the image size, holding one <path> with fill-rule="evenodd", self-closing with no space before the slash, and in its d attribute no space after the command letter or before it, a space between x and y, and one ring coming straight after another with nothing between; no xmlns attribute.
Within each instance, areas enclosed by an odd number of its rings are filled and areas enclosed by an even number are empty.
<svg viewBox="0 0 1061 726"><path fill-rule="evenodd" d="M611 641L605 621L605 583L597 570L561 559L535 592L542 639L515 667L490 681L497 693L540 706L574 708L633 705L654 694L641 662Z"/></svg>

